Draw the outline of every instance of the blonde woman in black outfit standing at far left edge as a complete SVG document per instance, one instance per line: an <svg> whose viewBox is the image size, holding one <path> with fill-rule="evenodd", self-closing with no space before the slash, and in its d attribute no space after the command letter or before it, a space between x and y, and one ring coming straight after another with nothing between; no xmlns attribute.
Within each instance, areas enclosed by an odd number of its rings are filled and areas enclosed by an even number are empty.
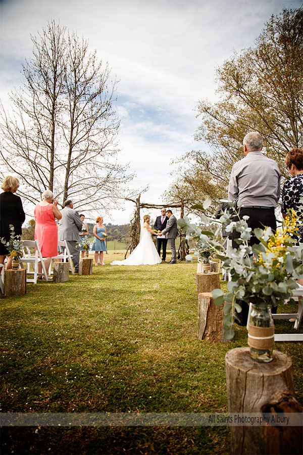
<svg viewBox="0 0 303 455"><path fill-rule="evenodd" d="M13 224L15 235L22 235L22 224L25 220L25 213L19 196L15 195L19 188L19 180L16 177L7 175L1 185L3 193L0 194L0 237L4 237L8 242L11 237L10 224ZM5 256L9 256L9 251L0 242L0 264L4 264ZM6 268L12 268L12 258L9 256Z"/></svg>

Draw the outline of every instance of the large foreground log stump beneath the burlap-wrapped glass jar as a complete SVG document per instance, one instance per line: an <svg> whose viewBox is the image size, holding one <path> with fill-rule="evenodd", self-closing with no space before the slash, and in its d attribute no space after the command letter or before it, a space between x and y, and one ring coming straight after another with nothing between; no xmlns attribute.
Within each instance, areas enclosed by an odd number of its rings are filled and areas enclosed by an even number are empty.
<svg viewBox="0 0 303 455"><path fill-rule="evenodd" d="M271 363L252 360L249 348L225 356L229 413L301 413L294 398L291 358L275 351ZM231 426L232 454L301 453L302 427Z"/></svg>

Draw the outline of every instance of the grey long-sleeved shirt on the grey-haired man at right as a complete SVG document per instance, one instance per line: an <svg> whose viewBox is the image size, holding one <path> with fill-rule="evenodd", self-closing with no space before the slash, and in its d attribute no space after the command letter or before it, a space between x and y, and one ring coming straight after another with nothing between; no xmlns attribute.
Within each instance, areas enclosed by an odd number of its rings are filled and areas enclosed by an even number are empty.
<svg viewBox="0 0 303 455"><path fill-rule="evenodd" d="M241 201L243 206L276 207L280 197L281 172L277 163L262 152L249 152L232 167L229 201Z"/></svg>

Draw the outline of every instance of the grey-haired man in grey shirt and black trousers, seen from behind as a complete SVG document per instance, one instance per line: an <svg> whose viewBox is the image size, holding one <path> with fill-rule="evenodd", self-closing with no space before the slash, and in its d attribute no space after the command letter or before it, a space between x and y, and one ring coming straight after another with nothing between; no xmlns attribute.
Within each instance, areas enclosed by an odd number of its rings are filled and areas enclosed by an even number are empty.
<svg viewBox="0 0 303 455"><path fill-rule="evenodd" d="M263 141L260 133L246 134L243 146L245 158L233 165L228 199L242 202L240 217L249 216L247 224L252 230L264 226L276 230L275 207L280 196L280 169L274 160L261 152ZM234 239L239 236L235 231L232 234L234 248L238 247ZM251 245L255 243L259 241L253 237Z"/></svg>

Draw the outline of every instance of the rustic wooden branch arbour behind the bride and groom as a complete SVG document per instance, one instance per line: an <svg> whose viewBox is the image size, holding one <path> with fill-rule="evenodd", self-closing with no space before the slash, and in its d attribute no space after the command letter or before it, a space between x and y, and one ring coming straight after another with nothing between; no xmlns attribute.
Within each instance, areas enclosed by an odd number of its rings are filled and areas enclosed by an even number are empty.
<svg viewBox="0 0 303 455"><path fill-rule="evenodd" d="M131 201L135 204L135 213L133 218L130 220L130 245L128 246L126 253L125 253L125 258L127 256L127 253L131 253L136 246L138 245L140 241L140 209L141 208L147 208L147 209L157 209L157 208L162 208L162 207L167 207L167 208L180 208L181 209L181 214L180 217L183 218L184 216L184 204L186 201L183 199L178 202L178 203L172 203L172 204L148 204L146 202L140 202L140 197L141 194L138 195L136 199L131 199L131 198L125 198L126 201ZM181 258L181 260L185 259L186 254L188 254L188 243L182 237L182 228L179 228L180 234L181 234L181 242L180 242L180 247L178 249L178 257Z"/></svg>

